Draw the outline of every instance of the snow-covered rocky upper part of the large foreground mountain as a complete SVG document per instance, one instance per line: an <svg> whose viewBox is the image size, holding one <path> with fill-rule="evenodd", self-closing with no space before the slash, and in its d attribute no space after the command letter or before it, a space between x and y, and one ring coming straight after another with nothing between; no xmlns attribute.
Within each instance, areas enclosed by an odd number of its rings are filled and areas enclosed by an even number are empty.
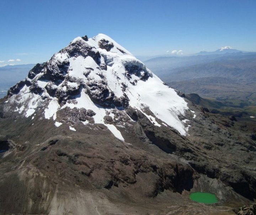
<svg viewBox="0 0 256 215"><path fill-rule="evenodd" d="M103 124L121 140L120 128L135 123L138 112L182 135L189 128L179 119L188 110L185 100L105 34L77 37L37 64L9 90L5 104L31 120L42 115L57 127L67 123L72 131L79 123Z"/></svg>

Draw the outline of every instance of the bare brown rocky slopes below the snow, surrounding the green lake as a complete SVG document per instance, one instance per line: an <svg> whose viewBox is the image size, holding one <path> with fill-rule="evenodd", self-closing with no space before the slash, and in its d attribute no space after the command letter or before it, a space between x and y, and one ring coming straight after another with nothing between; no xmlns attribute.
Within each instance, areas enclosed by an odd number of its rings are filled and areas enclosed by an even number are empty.
<svg viewBox="0 0 256 215"><path fill-rule="evenodd" d="M9 147L0 154L0 214L235 214L256 196L255 140L190 106L189 136L138 113L119 128L125 142L103 125L77 123L74 132L0 111ZM197 191L219 202L192 202Z"/></svg>

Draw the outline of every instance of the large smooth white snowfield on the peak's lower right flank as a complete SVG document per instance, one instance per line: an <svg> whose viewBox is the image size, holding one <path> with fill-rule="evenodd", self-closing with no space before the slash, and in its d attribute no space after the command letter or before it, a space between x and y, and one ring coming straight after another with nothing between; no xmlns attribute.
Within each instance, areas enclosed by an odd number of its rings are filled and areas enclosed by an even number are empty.
<svg viewBox="0 0 256 215"><path fill-rule="evenodd" d="M178 115L185 115L187 103L174 89L164 85L155 75L145 82L138 81L136 86L130 85L126 94L132 107L139 109L146 116L143 111L145 104L156 117L175 128L180 134L186 135L185 126Z"/></svg>

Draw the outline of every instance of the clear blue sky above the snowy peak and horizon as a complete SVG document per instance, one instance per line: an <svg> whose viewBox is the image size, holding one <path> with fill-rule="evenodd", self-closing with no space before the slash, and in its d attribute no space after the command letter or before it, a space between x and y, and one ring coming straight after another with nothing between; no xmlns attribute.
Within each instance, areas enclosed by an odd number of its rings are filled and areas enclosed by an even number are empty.
<svg viewBox="0 0 256 215"><path fill-rule="evenodd" d="M255 10L255 0L1 0L0 66L47 61L98 33L137 56L256 51Z"/></svg>

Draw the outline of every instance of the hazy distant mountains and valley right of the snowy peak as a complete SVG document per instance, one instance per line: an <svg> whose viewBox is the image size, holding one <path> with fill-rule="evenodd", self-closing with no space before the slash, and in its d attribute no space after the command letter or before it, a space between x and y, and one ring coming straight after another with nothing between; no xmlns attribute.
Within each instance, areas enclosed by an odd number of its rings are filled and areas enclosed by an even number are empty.
<svg viewBox="0 0 256 215"><path fill-rule="evenodd" d="M197 93L224 102L225 108L256 114L256 53L223 48L193 56L156 57L145 64L185 94Z"/></svg>

